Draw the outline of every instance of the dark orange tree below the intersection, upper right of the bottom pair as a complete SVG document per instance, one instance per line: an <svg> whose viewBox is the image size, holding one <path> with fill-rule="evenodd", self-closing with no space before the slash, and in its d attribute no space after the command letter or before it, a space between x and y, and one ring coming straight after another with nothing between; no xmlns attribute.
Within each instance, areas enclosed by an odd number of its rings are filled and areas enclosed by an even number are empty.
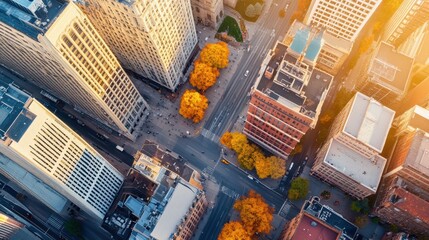
<svg viewBox="0 0 429 240"><path fill-rule="evenodd" d="M253 236L255 233L269 233L273 221L273 209L264 201L261 195L250 190L247 197L241 197L234 203L234 209L240 214L246 232Z"/></svg>

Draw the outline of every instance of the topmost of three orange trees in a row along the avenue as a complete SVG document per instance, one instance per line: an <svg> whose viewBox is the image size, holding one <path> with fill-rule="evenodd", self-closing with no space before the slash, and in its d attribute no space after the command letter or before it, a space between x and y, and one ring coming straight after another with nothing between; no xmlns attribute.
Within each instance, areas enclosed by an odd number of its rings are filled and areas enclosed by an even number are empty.
<svg viewBox="0 0 429 240"><path fill-rule="evenodd" d="M228 45L224 42L217 42L206 44L201 50L200 59L203 63L220 69L228 66L228 56Z"/></svg>

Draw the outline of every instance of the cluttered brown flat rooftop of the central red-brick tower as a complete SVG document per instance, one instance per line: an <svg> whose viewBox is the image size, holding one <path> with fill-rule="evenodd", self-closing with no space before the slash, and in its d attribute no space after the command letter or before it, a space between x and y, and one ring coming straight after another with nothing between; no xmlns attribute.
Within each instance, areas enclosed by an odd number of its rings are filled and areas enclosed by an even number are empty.
<svg viewBox="0 0 429 240"><path fill-rule="evenodd" d="M274 69L271 79L262 74L256 89L272 99L315 118L324 101L324 93L329 90L333 77L313 68L287 53L286 45L278 42L267 67Z"/></svg>

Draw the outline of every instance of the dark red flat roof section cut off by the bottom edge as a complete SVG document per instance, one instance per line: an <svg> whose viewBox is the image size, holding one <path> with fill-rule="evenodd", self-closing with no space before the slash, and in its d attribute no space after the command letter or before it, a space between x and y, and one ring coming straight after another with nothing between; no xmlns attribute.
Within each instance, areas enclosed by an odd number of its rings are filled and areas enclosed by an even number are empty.
<svg viewBox="0 0 429 240"><path fill-rule="evenodd" d="M341 232L338 229L334 229L322 220L304 213L290 240L335 240L339 239L340 236Z"/></svg>

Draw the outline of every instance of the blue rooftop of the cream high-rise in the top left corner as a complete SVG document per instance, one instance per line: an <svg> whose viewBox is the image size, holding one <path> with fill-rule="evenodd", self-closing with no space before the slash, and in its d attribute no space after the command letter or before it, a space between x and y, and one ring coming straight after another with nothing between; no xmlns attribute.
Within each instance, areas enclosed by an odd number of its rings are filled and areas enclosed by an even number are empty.
<svg viewBox="0 0 429 240"><path fill-rule="evenodd" d="M62 0L0 0L0 22L37 40L67 6Z"/></svg>

